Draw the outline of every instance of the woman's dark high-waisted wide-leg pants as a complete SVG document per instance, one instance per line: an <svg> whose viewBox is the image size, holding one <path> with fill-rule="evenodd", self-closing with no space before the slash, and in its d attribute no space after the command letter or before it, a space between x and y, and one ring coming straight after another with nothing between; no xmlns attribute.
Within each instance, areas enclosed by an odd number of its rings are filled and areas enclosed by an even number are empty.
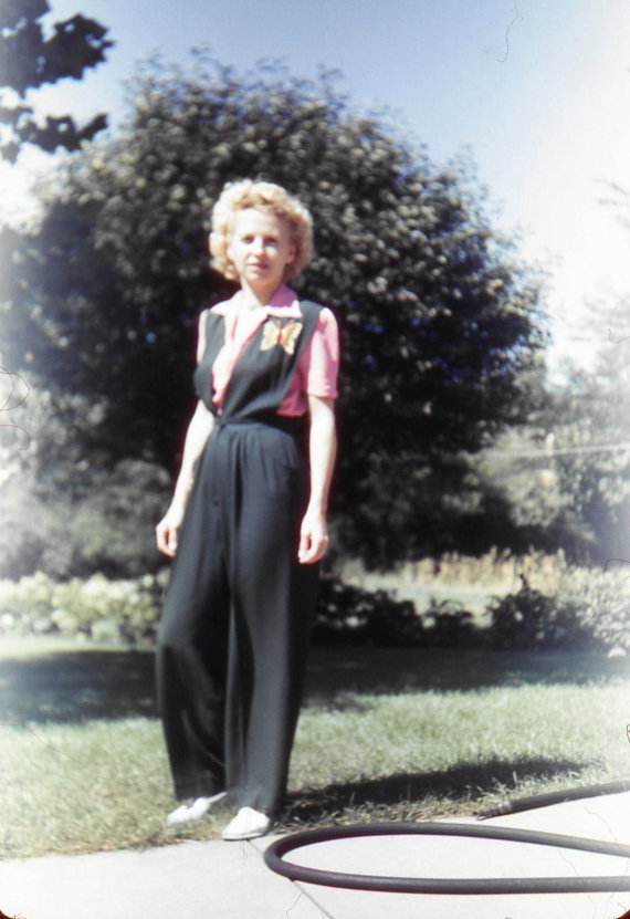
<svg viewBox="0 0 630 919"><path fill-rule="evenodd" d="M206 445L157 648L178 800L228 791L270 815L282 802L318 575L297 562L306 489L282 429L231 422Z"/></svg>

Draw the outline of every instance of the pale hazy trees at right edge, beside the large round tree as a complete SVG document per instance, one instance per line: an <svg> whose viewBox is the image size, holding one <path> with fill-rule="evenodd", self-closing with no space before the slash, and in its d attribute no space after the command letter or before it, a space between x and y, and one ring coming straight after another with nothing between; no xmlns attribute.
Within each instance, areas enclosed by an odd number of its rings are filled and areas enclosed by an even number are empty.
<svg viewBox="0 0 630 919"><path fill-rule="evenodd" d="M566 361L561 384L546 385L526 424L475 459L521 540L561 546L579 561L629 557L630 364L628 302L590 305L580 323L609 328L592 366Z"/></svg>

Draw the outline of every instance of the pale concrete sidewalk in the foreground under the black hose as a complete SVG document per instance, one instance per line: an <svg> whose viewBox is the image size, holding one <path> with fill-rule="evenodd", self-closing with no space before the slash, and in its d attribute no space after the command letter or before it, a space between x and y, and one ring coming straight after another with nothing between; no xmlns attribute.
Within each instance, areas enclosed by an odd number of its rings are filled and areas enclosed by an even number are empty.
<svg viewBox="0 0 630 919"><path fill-rule="evenodd" d="M484 825L630 844L630 793L495 817ZM4 861L0 909L23 919L619 919L630 910L630 891L434 896L294 884L266 867L270 842L212 840ZM456 837L335 840L296 849L287 860L407 877L630 875L626 858Z"/></svg>

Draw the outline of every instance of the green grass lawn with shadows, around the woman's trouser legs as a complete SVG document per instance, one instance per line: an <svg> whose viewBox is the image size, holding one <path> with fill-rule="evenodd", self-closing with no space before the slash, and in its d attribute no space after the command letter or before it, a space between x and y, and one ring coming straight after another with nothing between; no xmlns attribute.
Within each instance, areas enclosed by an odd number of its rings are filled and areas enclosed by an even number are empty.
<svg viewBox="0 0 630 919"><path fill-rule="evenodd" d="M630 776L630 661L315 648L280 828L427 819ZM0 647L0 855L217 836L172 806L153 656Z"/></svg>

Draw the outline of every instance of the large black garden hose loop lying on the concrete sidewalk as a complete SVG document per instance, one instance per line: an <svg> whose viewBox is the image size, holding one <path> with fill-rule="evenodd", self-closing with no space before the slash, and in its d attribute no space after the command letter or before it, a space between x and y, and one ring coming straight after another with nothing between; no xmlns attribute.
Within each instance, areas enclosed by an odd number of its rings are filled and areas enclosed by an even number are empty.
<svg viewBox="0 0 630 919"><path fill-rule="evenodd" d="M376 823L328 826L294 833L272 843L264 854L264 859L269 868L291 880L351 890L379 890L396 894L594 894L630 890L628 866L623 874L612 877L417 878L328 871L307 868L283 859L286 853L314 843L360 836L412 835L503 839L630 858L630 845L586 839L579 836L561 836L555 833L490 827L479 824Z"/></svg>

